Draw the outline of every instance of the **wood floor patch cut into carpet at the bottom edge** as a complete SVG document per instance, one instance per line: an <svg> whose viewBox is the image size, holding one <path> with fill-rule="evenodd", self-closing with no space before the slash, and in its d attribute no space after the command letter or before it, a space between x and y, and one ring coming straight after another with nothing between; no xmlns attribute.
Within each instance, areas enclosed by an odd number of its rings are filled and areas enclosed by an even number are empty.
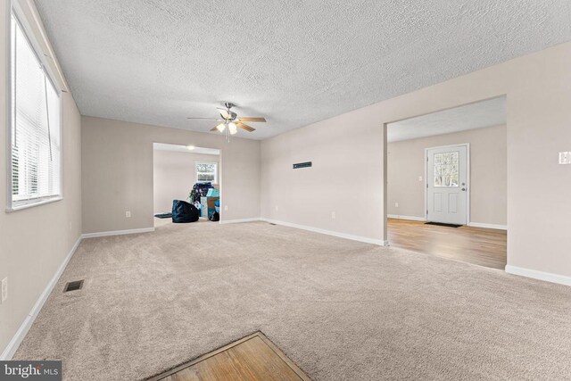
<svg viewBox="0 0 571 381"><path fill-rule="evenodd" d="M310 381L284 352L256 332L150 381Z"/></svg>

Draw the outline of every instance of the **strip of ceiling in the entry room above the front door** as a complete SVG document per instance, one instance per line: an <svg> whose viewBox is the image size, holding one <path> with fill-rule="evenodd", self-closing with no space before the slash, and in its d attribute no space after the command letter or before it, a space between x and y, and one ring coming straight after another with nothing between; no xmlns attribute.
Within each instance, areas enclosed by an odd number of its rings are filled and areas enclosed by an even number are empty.
<svg viewBox="0 0 571 381"><path fill-rule="evenodd" d="M506 97L501 96L389 123L386 140L392 143L418 137L432 137L467 129L498 126L506 124L506 121Z"/></svg>

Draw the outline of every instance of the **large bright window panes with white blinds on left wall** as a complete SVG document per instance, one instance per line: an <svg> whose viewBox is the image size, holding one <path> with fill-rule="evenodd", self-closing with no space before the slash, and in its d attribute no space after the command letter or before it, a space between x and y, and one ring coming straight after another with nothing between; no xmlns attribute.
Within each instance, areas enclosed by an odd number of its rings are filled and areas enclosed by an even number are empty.
<svg viewBox="0 0 571 381"><path fill-rule="evenodd" d="M62 195L61 102L38 54L12 13L12 209ZM9 205L10 207L10 205Z"/></svg>

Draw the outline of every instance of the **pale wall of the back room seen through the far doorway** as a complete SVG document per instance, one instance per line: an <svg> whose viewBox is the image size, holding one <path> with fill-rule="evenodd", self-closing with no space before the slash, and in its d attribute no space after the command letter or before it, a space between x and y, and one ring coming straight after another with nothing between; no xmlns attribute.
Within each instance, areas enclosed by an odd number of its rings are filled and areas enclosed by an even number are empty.
<svg viewBox="0 0 571 381"><path fill-rule="evenodd" d="M219 155L153 151L153 211L172 209L172 200L188 201L196 182L195 162L219 162ZM214 187L219 187L214 185Z"/></svg>

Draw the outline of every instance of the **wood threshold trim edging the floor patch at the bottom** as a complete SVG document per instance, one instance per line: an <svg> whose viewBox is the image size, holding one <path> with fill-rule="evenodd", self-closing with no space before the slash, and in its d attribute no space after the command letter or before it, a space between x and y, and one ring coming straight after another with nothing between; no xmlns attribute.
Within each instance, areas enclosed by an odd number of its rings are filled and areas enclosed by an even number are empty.
<svg viewBox="0 0 571 381"><path fill-rule="evenodd" d="M178 377L176 377L176 375L177 375L179 372L184 371L185 369L188 369L188 368L190 368L190 367L193 367L194 365L199 364L200 362L202 362L202 361L204 361L204 360L211 359L212 357L217 356L217 355L219 355L220 353L227 352L228 350L230 350L230 349L232 349L232 348L234 348L234 347L237 347L237 346L239 346L240 344L244 344L244 343L246 343L246 342L248 342L248 341L250 341L250 340L252 340L252 339L255 339L255 338L260 338L261 341L263 342L263 344L266 344L266 345L269 347L269 349L270 349L273 353L275 353L275 354L277 355L277 357L279 358L279 360L282 360L282 361L285 363L285 365L286 365L289 369L291 369L291 370L295 373L295 375L296 375L297 377L299 377L302 381L311 381L310 377L308 377L308 376L302 371L302 369L300 369L297 365L295 365L294 361L290 360L290 359L285 355L285 353L282 352L282 351L277 347L276 344L273 344L273 343L269 340L269 338L266 337L266 335L264 335L264 334L261 333L260 331L254 332L252 335L247 335L247 336L245 336L245 337L243 337L243 338L241 338L241 339L239 339L239 340L236 340L236 341L233 342L233 343L224 345L223 347L221 347L221 348L219 348L219 349L217 349L217 350L214 350L214 351L212 351L212 352L208 352L208 353L206 353L206 354L203 354L202 356L200 356L200 357L198 357L198 358L196 358L196 359L194 359L194 360L187 361L187 362L185 362L184 364L178 365L177 367L175 367L175 368L173 368L173 369L170 369L170 370L167 370L166 372L161 373L161 374L159 374L159 375L157 375L157 376L154 376L154 377L151 377L151 378L146 378L146 381L160 381L160 380L165 380L165 379L177 379L177 380L178 380ZM279 376L279 375L277 375L277 376ZM172 378L169 378L169 377L172 377ZM284 377L276 377L276 378L285 379ZM218 379L218 378L217 378L217 379ZM236 379L236 378L232 378L232 379ZM251 379L251 378L248 378L248 379ZM258 379L258 378L253 378L253 379ZM263 379L263 378L261 378L261 379Z"/></svg>

